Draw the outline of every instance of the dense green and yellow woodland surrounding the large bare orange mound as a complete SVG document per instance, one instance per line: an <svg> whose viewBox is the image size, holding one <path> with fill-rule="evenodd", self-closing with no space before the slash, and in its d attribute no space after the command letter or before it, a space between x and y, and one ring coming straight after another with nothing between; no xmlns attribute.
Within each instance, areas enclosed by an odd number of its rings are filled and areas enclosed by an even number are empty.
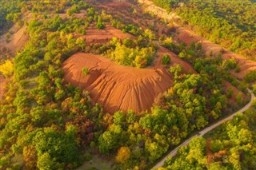
<svg viewBox="0 0 256 170"><path fill-rule="evenodd" d="M6 1L2 0L1 4L6 4ZM246 87L254 82L256 76L252 72L247 75L246 81L239 82L230 75L230 70L238 68L235 61L222 61L221 53L219 57L210 59L205 56L200 44L191 43L186 47L182 42L171 41L166 35L160 38L160 43L190 62L198 73L184 74L181 65L167 68L174 77L174 85L158 98L150 111L105 113L100 105L92 105L90 93L63 80L62 62L80 51L100 53L121 65L138 68L153 65L158 53L155 42L158 35L154 34L154 30L143 30L132 23L126 25L118 18L98 10L97 6L79 0L17 1L17 4L15 6L23 10L1 10L6 11L2 14L6 20L2 22L15 22L10 18L20 12L32 13L34 18L30 22L23 21L30 34L25 48L15 55L14 61L6 60L0 66L0 70L9 70L2 73L12 78L0 109L2 169L74 169L96 154L110 156L114 160L113 168L150 168L170 148L180 144L193 132L246 103L242 100L242 92L238 93L235 101L231 101L233 90L224 89L223 81L230 81L246 92ZM86 10L86 16L75 18L74 14L80 10ZM56 13L66 14L66 18ZM86 34L90 28L104 29L106 23L136 38L122 41L113 38L106 45L89 45L82 38L74 36ZM168 65L170 61L165 59L162 63ZM243 119L242 116L238 117L238 121L230 126L238 125ZM249 126L253 124L252 120L245 121L244 126L235 129L238 132L244 129L240 133L248 135L246 144L254 144ZM237 134L237 131L234 133ZM235 137L223 137L222 140L236 140ZM191 143L191 149L197 146L195 143L198 140L202 148L206 147L203 145L205 140L198 138ZM216 139L221 143L222 140ZM215 139L212 141L216 143ZM240 143L226 143L224 147L234 148L234 153L238 154L240 148L236 147ZM222 150L216 150L214 144L213 152ZM190 148L185 150L190 151ZM248 159L252 158L252 154L254 150L244 159L250 162ZM193 153L190 155L195 156ZM201 161L202 157L193 156L190 156L192 162L208 168L205 160ZM178 160L168 161L166 166L174 166L177 164L175 161ZM234 161L239 164L238 160ZM232 166L233 162L230 164L228 166ZM249 168L253 164L245 166Z"/></svg>

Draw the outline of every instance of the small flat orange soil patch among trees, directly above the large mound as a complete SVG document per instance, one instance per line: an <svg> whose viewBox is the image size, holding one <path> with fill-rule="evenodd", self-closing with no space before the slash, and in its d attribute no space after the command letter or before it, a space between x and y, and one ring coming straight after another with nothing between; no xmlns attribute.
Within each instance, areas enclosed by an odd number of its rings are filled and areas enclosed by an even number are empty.
<svg viewBox="0 0 256 170"><path fill-rule="evenodd" d="M104 30L89 29L86 30L86 35L76 34L75 38L83 38L87 43L100 43L105 44L112 38L118 39L130 38L134 39L134 36L130 34L122 33L122 30L115 29L113 26L106 25Z"/></svg>

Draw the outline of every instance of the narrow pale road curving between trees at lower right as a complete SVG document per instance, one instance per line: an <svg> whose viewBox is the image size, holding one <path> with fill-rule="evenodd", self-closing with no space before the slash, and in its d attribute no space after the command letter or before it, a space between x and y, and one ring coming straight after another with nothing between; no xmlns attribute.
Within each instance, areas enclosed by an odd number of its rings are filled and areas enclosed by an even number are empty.
<svg viewBox="0 0 256 170"><path fill-rule="evenodd" d="M224 119L222 119L222 120L216 122L214 125L211 125L211 126L209 126L208 128L203 129L202 131L198 132L198 133L197 133L196 135L194 135L194 136L203 136L203 135L206 134L206 132L210 132L212 129L218 127L219 125L222 125L222 124L225 123L226 121L230 121L230 120L231 120L235 115L237 115L238 113L243 113L244 111L246 111L247 109L249 109L249 108L250 108L250 105L251 105L252 102L254 101L255 96L254 96L254 93L252 93L252 92L250 91L250 89L248 89L248 91L249 91L249 93L250 93L250 102L249 102L247 105L245 105L242 109L238 110L237 112L232 113L229 117L226 117L226 118L224 118ZM178 145L178 147L174 148L174 150L172 150L167 156L165 156L164 158L162 158L162 160L160 160L160 161L158 162L158 164L156 164L156 165L154 166L154 168L152 168L152 169L157 169L157 168L162 167L163 163L166 161L166 159L167 159L169 156L172 156L172 157L175 156L176 153L177 153L177 151L178 151L178 148L180 148L180 147L182 147L182 146L184 146L184 145L186 145L186 144L189 144L190 141L192 140L192 138L193 138L194 136L191 136L189 139L185 140L182 144Z"/></svg>

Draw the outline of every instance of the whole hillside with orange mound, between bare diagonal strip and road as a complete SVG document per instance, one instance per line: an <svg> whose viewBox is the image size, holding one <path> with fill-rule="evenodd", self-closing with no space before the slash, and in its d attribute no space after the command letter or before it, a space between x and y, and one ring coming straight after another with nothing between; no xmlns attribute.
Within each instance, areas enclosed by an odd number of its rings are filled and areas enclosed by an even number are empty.
<svg viewBox="0 0 256 170"><path fill-rule="evenodd" d="M0 0L0 169L150 169L247 104L254 61L139 2Z"/></svg>

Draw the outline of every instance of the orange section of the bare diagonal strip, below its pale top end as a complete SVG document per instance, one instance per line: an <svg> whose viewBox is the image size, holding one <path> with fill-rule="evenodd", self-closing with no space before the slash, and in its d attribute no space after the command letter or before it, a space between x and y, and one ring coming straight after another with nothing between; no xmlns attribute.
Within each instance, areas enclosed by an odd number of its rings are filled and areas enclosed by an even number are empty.
<svg viewBox="0 0 256 170"><path fill-rule="evenodd" d="M183 27L178 27L178 34L175 36L175 40L182 40L183 42L186 42L187 45L189 45L191 42L202 42L202 49L206 51L206 54L212 53L214 55L217 55L218 53L221 53L223 50L223 47L221 45L217 45L213 42L210 42L206 40L205 38L199 37L197 34L194 34L194 32L190 30L186 30ZM246 59L245 57L242 57L241 55L238 55L237 53L233 53L228 49L225 49L225 52L222 55L223 59L229 59L229 58L235 58L238 65L241 68L241 71L239 73L232 72L234 76L242 79L246 73L250 72L250 70L256 69L256 62L250 61Z"/></svg>

